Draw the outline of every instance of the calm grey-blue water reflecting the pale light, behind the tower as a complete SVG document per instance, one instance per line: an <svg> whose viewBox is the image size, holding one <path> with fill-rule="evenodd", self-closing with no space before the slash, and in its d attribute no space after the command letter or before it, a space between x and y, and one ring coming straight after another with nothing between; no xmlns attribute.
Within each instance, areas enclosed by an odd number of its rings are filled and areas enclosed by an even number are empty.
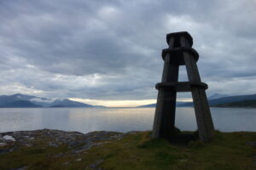
<svg viewBox="0 0 256 170"><path fill-rule="evenodd" d="M221 131L255 131L256 109L211 108L215 128ZM195 130L194 108L177 108L176 126ZM151 130L154 108L36 108L0 109L0 132L61 129L88 133L91 131Z"/></svg>

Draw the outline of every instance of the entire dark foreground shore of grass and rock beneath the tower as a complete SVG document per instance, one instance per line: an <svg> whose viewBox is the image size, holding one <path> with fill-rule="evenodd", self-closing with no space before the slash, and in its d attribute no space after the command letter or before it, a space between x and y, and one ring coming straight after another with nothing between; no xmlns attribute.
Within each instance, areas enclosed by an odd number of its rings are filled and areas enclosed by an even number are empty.
<svg viewBox="0 0 256 170"><path fill-rule="evenodd" d="M150 132L0 133L0 169L256 169L256 133L215 133L211 144L170 144Z"/></svg>

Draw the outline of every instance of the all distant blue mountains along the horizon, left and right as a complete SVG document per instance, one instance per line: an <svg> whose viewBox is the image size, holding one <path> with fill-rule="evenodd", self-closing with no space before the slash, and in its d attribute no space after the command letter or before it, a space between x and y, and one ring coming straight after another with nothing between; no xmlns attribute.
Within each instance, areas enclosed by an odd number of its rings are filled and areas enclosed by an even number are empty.
<svg viewBox="0 0 256 170"><path fill-rule="evenodd" d="M220 97L220 98L217 98ZM217 98L217 99L216 99ZM210 106L233 106L236 105L239 107L241 105L239 102L242 102L242 105L250 105L252 101L255 100L256 94L249 95L235 95L228 96L226 94L213 94L208 98L208 103ZM249 102L247 104L247 102ZM136 108L150 108L155 107L156 104L150 105L139 105ZM177 107L192 107L193 102L177 102ZM73 101L71 99L49 99L49 98L40 98L37 96L31 96L26 94L13 94L13 95L0 95L0 108L56 108L56 107L104 107L102 105L89 105L82 102ZM252 106L253 107L253 106Z"/></svg>

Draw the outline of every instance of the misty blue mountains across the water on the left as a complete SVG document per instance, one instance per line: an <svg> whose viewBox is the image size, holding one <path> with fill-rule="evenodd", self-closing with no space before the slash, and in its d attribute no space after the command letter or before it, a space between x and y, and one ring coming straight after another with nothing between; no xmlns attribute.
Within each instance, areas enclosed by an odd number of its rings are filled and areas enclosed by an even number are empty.
<svg viewBox="0 0 256 170"><path fill-rule="evenodd" d="M0 96L0 107L94 107L70 99L49 99L14 94Z"/></svg>

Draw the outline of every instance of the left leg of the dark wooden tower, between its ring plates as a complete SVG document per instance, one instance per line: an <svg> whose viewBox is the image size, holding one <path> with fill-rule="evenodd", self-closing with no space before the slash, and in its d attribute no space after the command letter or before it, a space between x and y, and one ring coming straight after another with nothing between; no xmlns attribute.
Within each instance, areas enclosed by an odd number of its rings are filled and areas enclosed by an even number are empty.
<svg viewBox="0 0 256 170"><path fill-rule="evenodd" d="M172 49L174 38L170 38L169 48ZM162 74L162 82L177 82L178 65L171 62L171 56L165 57L165 65ZM154 114L153 138L170 139L175 124L177 92L174 88L161 88L157 97L157 104Z"/></svg>

